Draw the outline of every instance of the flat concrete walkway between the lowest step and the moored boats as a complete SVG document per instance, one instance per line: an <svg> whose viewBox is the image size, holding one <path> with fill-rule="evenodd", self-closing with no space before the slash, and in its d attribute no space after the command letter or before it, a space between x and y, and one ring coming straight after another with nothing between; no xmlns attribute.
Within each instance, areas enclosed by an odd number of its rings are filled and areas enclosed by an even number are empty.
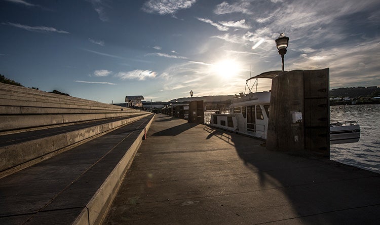
<svg viewBox="0 0 380 225"><path fill-rule="evenodd" d="M378 224L380 174L156 115L103 224Z"/></svg>

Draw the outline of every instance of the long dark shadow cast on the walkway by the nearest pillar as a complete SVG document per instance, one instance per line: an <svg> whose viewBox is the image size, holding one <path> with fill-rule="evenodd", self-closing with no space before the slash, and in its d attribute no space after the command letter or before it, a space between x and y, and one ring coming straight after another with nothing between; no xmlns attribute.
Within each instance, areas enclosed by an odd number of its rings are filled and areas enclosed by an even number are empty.
<svg viewBox="0 0 380 225"><path fill-rule="evenodd" d="M309 154L268 151L263 141L213 128L210 134L235 146L252 170L251 192L271 193L263 203L273 204L271 222L302 224L375 224L380 217L380 175ZM284 213L279 210L281 204ZM368 213L377 211L377 215ZM267 221L269 222L269 221ZM289 223L290 222L290 223Z"/></svg>

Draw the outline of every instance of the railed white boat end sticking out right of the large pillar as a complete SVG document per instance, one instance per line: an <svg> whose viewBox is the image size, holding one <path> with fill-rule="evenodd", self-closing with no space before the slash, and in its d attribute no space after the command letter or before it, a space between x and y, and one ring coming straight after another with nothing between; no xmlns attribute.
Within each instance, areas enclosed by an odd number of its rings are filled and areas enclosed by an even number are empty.
<svg viewBox="0 0 380 225"><path fill-rule="evenodd" d="M330 124L330 144L358 142L359 139L360 126L357 121Z"/></svg>

